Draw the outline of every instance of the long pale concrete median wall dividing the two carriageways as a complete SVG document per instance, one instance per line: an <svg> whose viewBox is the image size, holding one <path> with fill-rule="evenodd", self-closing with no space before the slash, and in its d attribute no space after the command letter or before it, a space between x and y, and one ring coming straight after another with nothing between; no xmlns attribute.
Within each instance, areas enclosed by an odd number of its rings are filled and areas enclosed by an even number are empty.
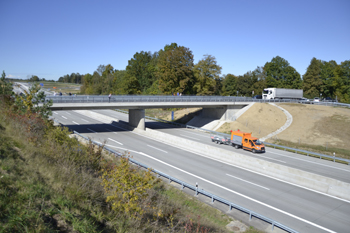
<svg viewBox="0 0 350 233"><path fill-rule="evenodd" d="M104 116L91 111L83 110L83 111L77 111L77 112L81 114L85 114L89 117L98 119L104 123L111 123L113 121L117 121L117 119L113 119L111 117ZM145 131L135 128L133 131L140 135L151 137L158 141L161 141L161 142L164 141L166 143L173 144L177 147L182 147L185 150L202 154L206 157L218 159L223 162L227 162L232 165L243 167L254 172L258 172L264 175L278 178L283 181L297 184L297 185L310 188L322 193L327 193L332 196L350 200L349 183L345 183L345 182L328 178L325 176L313 174L310 172L302 171L299 169L287 167L284 165L275 164L275 163L261 160L258 158L244 156L235 152L234 150L236 149L234 149L233 147L232 147L233 151L220 149L214 146L205 145L205 144L194 142L184 138L179 138L176 136L172 136L170 134L165 134L165 133L148 129L148 128L146 128ZM209 135L208 135L208 140L210 140Z"/></svg>

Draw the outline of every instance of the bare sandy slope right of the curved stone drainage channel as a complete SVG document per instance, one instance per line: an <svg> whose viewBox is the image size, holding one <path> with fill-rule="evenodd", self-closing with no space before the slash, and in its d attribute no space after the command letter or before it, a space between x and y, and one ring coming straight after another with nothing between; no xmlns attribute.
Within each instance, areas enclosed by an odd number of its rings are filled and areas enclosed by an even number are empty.
<svg viewBox="0 0 350 233"><path fill-rule="evenodd" d="M292 125L277 137L311 145L350 149L350 109L321 105L280 104L293 116Z"/></svg>

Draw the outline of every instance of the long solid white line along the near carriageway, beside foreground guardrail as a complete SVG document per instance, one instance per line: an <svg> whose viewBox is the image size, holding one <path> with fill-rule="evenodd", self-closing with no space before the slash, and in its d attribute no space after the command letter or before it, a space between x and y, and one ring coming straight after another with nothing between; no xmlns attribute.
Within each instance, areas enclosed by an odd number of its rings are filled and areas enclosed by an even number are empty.
<svg viewBox="0 0 350 233"><path fill-rule="evenodd" d="M236 192L236 191L231 190L231 189L229 189L229 188L226 188L226 187L224 187L224 186L222 186L222 185L216 184L216 183L214 183L214 182L212 182L212 181L209 181L209 180L204 179L204 178L202 178L202 177L200 177L200 176L197 176L197 175L195 175L195 174L192 174L192 173L190 173L190 172L188 172L188 171L185 171L185 170L183 170L183 169L181 169L181 168L175 167L175 166L173 166L173 165L171 165L171 164L168 164L168 163L166 163L166 162L164 162L164 161L161 161L161 160L159 160L159 159L156 159L156 158L154 158L154 157L152 157L152 156L150 156L150 155L147 155L147 154L145 154L145 153L143 153L143 152L139 152L139 154L141 154L141 155L143 155L143 156L146 156L146 157L148 157L148 158L150 158L150 159L156 160L156 161L158 161L159 163L163 163L163 164L165 164L165 165L167 165L167 166L169 166L169 167L172 167L172 168L174 168L174 169L176 169L176 170L179 170L179 171L181 171L181 172L183 172L183 173L186 173L186 174L188 174L188 175L190 175L190 176L193 176L193 177L195 177L195 178L197 178L197 179L203 180L203 181L205 181L205 182L207 182L207 183L209 183L209 184L212 184L212 185L214 185L214 186L217 186L217 187L219 187L219 188L221 188L221 189L227 190L227 191L229 191L229 192L231 192L231 193L234 193L234 194L236 194L236 195L238 195L238 196L241 196L241 197L243 197L243 198L246 198L246 199L248 199L248 200L250 200L250 201L253 201L253 202L258 203L258 204L260 204L260 205L266 206L266 207L268 207L268 208L270 208L270 209L273 209L273 210L275 210L275 211L277 211L277 212L283 213L283 214L285 214L285 215L287 215L287 216L289 216L289 217L298 219L299 221L305 222L305 223L310 224L310 225L312 225L312 226L314 226L314 227L320 228L320 229L322 229L322 230L324 230L324 231L331 232L331 233L336 233L335 231L332 231L332 230L330 230L330 229L327 229L327 228L325 228L325 227L322 227L322 226L320 226L320 225L317 225L316 223L310 222L310 221L308 221L308 220L306 220L306 219L303 219L303 218L300 218L300 217L298 217L298 216L296 216L296 215L294 215L294 214L288 213L288 212L286 212L286 211L284 211L284 210L280 210L280 209L278 209L278 208L276 208L276 207L273 207L273 206L271 206L271 205L269 205L269 204L266 204L266 203L264 203L264 202L258 201L258 200L254 199L254 198L248 197L247 195L244 195L244 194L242 194L242 193Z"/></svg>

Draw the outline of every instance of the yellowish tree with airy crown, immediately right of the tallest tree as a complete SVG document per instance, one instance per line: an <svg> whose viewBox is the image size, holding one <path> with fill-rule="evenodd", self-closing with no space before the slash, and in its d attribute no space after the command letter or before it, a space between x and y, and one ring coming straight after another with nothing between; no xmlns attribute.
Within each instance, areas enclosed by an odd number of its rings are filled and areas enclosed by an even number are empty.
<svg viewBox="0 0 350 233"><path fill-rule="evenodd" d="M194 66L195 84L193 90L197 95L212 95L215 93L217 80L220 80L221 66L214 56L204 55L204 58Z"/></svg>

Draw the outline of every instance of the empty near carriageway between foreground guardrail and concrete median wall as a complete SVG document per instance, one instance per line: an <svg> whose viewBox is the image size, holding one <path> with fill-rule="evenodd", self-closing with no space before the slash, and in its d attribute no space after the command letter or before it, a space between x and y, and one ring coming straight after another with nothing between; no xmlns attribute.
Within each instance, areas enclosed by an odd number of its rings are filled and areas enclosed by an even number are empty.
<svg viewBox="0 0 350 233"><path fill-rule="evenodd" d="M159 143L76 112L54 112L69 128L154 169L286 224L300 232L344 232L350 203ZM122 126L122 125L121 125ZM323 229L324 228L324 229Z"/></svg>

